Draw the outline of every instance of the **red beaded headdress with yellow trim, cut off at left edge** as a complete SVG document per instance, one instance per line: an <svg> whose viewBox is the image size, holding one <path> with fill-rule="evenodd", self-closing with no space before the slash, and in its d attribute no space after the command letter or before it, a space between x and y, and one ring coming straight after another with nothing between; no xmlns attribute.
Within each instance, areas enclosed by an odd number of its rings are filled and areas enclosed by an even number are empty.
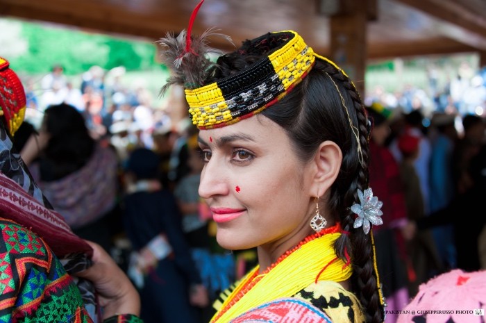
<svg viewBox="0 0 486 323"><path fill-rule="evenodd" d="M13 135L24 121L26 97L19 77L10 69L10 63L0 57L0 119Z"/></svg>

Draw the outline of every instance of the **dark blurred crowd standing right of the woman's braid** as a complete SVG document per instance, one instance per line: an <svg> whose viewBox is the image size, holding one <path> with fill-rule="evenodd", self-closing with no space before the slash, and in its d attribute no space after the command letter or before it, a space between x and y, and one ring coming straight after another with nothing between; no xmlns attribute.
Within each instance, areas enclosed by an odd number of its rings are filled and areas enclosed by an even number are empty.
<svg viewBox="0 0 486 323"><path fill-rule="evenodd" d="M367 110L370 187L386 215L375 230L378 267L389 310L401 310L437 274L486 269L486 123L376 102Z"/></svg>

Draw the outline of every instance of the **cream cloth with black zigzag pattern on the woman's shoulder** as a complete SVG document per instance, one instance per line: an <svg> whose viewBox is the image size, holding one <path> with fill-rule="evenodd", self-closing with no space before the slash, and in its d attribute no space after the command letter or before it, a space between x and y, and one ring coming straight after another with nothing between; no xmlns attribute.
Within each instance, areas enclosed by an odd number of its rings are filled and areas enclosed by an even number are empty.
<svg viewBox="0 0 486 323"><path fill-rule="evenodd" d="M294 298L308 301L330 317L332 322L365 322L358 298L334 281L318 281L304 288Z"/></svg>

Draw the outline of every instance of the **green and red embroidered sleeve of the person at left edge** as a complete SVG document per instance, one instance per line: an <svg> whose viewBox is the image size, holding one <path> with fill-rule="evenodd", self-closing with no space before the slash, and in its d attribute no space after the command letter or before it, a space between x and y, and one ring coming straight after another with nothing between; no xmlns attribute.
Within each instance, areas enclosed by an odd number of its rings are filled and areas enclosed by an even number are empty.
<svg viewBox="0 0 486 323"><path fill-rule="evenodd" d="M0 229L0 322L91 323L72 276L44 240L11 220L0 218ZM129 316L116 322L142 322Z"/></svg>

